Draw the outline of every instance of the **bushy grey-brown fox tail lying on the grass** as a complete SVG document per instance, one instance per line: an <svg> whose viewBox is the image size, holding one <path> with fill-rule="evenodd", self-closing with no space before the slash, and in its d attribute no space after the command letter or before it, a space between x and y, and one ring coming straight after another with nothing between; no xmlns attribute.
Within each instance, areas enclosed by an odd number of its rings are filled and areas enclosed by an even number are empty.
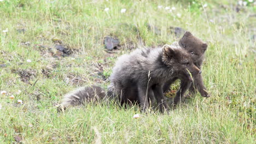
<svg viewBox="0 0 256 144"><path fill-rule="evenodd" d="M103 88L98 86L82 87L64 95L58 111L63 111L69 106L83 105L86 101L99 101L106 97Z"/></svg>

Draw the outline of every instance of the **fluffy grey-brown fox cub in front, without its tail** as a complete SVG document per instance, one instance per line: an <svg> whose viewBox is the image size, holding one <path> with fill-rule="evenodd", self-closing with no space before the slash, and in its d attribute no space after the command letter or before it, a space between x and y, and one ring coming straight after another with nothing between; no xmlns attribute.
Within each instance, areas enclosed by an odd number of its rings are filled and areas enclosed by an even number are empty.
<svg viewBox="0 0 256 144"><path fill-rule="evenodd" d="M164 45L156 49L137 49L118 58L109 77L108 95L118 98L121 104L138 101L143 111L148 109L149 97L155 97L162 112L167 109L163 96L167 80L178 78L184 83L191 83L190 75L196 77L200 73L191 55L181 47ZM182 94L186 90L187 87L181 87ZM182 95L177 95L175 99L180 97Z"/></svg>

